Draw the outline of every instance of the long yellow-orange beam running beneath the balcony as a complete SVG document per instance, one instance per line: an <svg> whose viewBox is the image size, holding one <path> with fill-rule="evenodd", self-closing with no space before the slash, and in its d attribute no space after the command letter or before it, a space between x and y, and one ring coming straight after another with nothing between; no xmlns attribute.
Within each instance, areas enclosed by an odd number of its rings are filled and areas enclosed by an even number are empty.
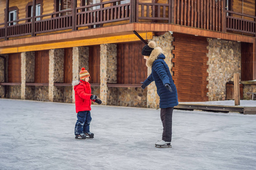
<svg viewBox="0 0 256 170"><path fill-rule="evenodd" d="M153 37L152 32L140 33L139 35L141 35L141 37L144 40L150 40ZM131 41L140 41L140 39L136 35L131 34L131 35L122 35L122 36L102 37L102 38L96 38L96 39L83 39L83 40L76 40L76 41L20 46L16 49L6 48L6 49L0 50L0 53L7 54L10 52L11 53L31 52L31 51L37 51L37 50L69 48L73 46L88 46L88 45L110 44L110 43L131 42Z"/></svg>

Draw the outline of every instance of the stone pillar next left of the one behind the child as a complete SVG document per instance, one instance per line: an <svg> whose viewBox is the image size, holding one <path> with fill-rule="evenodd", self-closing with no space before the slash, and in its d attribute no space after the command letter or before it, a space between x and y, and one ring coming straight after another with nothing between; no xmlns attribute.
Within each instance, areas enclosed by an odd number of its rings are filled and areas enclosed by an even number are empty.
<svg viewBox="0 0 256 170"><path fill-rule="evenodd" d="M64 101L64 88L54 86L63 83L64 79L64 49L49 50L49 101Z"/></svg>

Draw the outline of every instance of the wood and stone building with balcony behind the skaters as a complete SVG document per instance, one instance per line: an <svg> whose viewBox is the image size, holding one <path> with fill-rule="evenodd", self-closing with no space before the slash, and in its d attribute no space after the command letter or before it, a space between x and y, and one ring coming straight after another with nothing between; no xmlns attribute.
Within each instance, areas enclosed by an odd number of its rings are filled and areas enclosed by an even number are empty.
<svg viewBox="0 0 256 170"><path fill-rule="evenodd" d="M141 49L156 41L180 102L225 100L240 73L256 92L254 0L0 0L0 96L74 102L85 67L106 105L157 108ZM229 84L229 88L226 88Z"/></svg>

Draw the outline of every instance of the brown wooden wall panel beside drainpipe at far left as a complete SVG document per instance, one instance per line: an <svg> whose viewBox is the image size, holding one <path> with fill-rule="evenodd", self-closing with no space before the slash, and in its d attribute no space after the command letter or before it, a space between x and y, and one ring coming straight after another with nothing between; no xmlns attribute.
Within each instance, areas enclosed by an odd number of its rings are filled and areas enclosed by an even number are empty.
<svg viewBox="0 0 256 170"><path fill-rule="evenodd" d="M9 54L8 82L21 83L21 57L20 53Z"/></svg>

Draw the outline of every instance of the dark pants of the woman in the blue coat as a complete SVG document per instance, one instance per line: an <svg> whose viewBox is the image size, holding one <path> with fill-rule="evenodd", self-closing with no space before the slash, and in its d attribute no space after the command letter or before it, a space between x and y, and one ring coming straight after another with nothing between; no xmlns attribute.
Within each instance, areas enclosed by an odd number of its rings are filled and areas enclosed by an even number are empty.
<svg viewBox="0 0 256 170"><path fill-rule="evenodd" d="M174 107L161 108L160 111L160 117L163 123L162 140L166 142L172 141L172 111L174 111Z"/></svg>

